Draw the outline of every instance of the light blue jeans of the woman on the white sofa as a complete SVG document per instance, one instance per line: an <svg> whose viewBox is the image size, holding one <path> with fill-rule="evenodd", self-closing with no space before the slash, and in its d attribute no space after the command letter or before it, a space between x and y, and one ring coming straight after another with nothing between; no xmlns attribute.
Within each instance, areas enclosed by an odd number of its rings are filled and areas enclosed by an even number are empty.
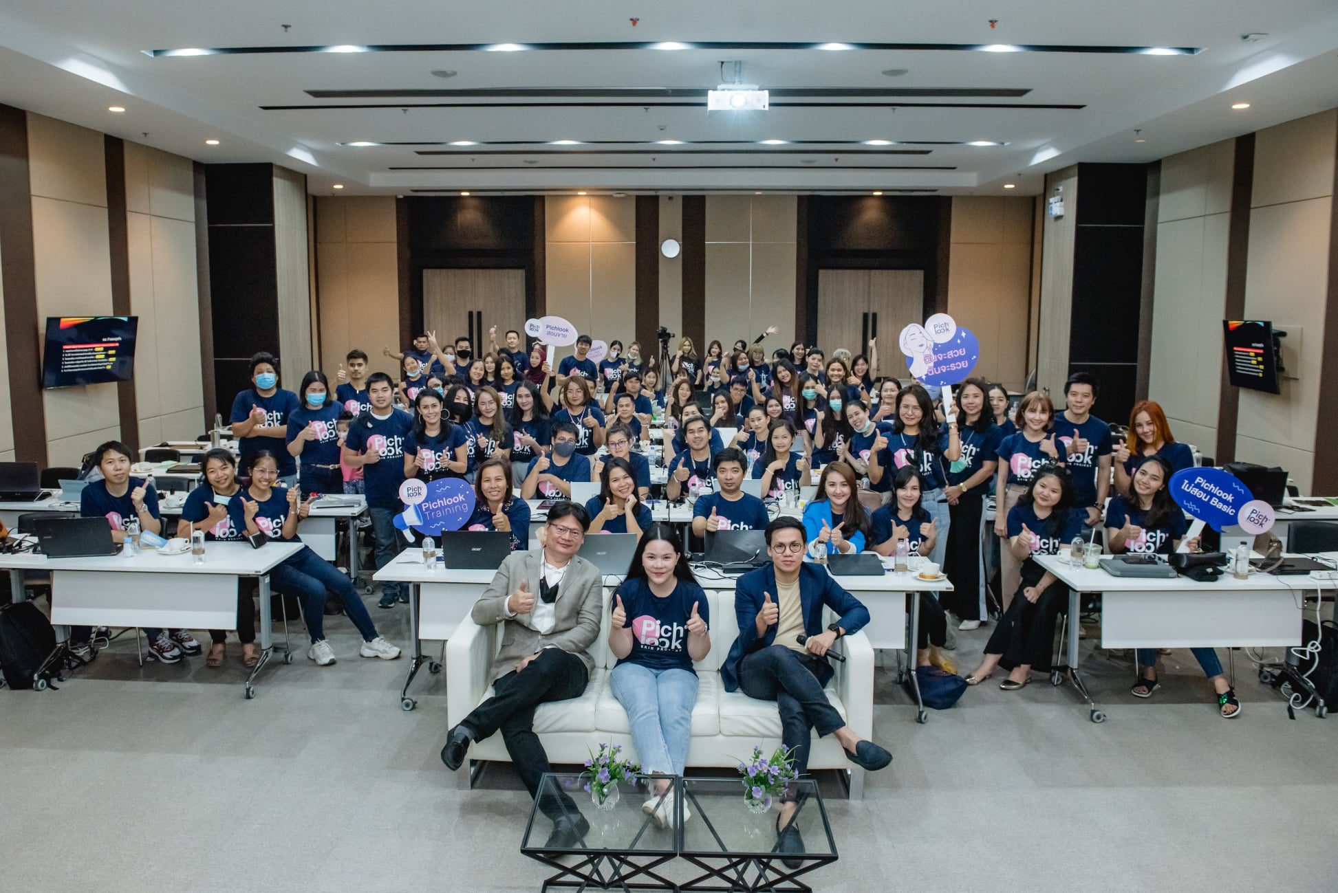
<svg viewBox="0 0 1338 893"><path fill-rule="evenodd" d="M619 663L609 674L609 687L632 726L632 743L641 770L682 775L692 743L692 709L697 703L697 674L688 670L652 670Z"/></svg>

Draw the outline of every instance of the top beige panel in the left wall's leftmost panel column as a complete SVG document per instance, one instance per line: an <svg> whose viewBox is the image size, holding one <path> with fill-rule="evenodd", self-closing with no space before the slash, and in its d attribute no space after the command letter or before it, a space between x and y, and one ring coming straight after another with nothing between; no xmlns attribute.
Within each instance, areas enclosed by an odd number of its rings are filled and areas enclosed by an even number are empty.
<svg viewBox="0 0 1338 893"><path fill-rule="evenodd" d="M107 207L103 135L28 112L28 178L32 195Z"/></svg>

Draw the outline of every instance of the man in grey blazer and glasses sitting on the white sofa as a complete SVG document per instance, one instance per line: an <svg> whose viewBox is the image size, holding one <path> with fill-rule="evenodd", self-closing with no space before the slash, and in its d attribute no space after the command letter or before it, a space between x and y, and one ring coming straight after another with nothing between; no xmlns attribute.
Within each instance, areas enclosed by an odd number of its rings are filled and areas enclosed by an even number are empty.
<svg viewBox="0 0 1338 893"><path fill-rule="evenodd" d="M507 556L474 604L475 623L502 623L504 631L492 662L494 695L448 733L442 747L442 762L448 769L460 767L470 742L500 731L531 797L543 773L551 771L549 755L534 734L534 710L549 700L579 698L585 691L594 668L587 650L599 635L603 610L603 576L577 556L589 524L582 505L554 505L549 509L545 545ZM550 844L569 846L585 833L585 819L565 793L541 802L539 809L554 821Z"/></svg>

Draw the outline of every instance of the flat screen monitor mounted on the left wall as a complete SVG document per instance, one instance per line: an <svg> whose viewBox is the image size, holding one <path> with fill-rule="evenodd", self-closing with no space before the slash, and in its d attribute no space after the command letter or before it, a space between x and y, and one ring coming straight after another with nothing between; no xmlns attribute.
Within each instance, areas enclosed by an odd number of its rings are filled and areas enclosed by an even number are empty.
<svg viewBox="0 0 1338 893"><path fill-rule="evenodd" d="M47 317L43 388L130 381L139 317Z"/></svg>

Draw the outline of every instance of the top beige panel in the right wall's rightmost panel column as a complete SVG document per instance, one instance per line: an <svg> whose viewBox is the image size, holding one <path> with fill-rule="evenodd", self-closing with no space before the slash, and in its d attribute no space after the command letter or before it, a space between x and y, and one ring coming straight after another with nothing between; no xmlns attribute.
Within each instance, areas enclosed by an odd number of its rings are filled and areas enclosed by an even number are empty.
<svg viewBox="0 0 1338 893"><path fill-rule="evenodd" d="M1335 124L1338 110L1330 108L1255 134L1251 207L1331 195Z"/></svg>

